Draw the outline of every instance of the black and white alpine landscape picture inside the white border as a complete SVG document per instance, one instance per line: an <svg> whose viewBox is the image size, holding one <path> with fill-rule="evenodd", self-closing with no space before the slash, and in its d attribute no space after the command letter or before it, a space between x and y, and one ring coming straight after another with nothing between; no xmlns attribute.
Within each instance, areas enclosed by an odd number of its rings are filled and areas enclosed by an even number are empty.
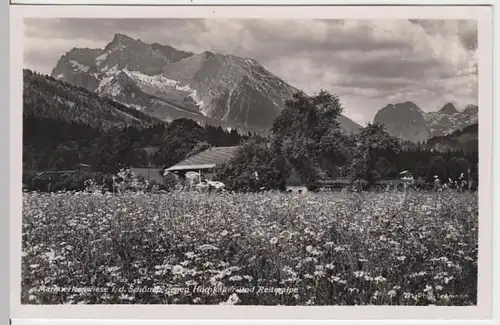
<svg viewBox="0 0 500 325"><path fill-rule="evenodd" d="M22 305L477 306L476 19L22 28Z"/></svg>

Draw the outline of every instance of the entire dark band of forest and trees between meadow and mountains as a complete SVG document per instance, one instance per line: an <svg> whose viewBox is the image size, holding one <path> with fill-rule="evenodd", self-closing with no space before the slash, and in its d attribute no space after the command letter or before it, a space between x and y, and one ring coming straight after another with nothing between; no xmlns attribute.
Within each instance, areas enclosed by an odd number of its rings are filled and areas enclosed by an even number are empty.
<svg viewBox="0 0 500 325"><path fill-rule="evenodd" d="M325 179L374 184L403 170L427 181L471 170L466 174L477 180L477 152L443 153L409 145L379 124L356 134L343 132L338 122L343 107L338 96L326 91L295 94L264 138L185 118L166 123L51 77L29 71L24 77L24 170L90 165L93 174L73 175L74 182L65 185L70 188L92 175L102 179L130 166L169 167L211 146L234 145L241 145L234 159L216 170L216 177L234 190L284 189L292 173L311 190ZM32 183L33 173L26 175Z"/></svg>

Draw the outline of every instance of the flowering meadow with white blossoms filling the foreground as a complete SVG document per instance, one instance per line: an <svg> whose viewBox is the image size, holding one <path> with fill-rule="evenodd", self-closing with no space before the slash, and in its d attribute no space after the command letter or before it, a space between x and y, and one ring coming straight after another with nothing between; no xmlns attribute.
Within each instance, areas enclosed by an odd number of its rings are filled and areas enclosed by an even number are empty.
<svg viewBox="0 0 500 325"><path fill-rule="evenodd" d="M477 193L23 193L23 304L474 305Z"/></svg>

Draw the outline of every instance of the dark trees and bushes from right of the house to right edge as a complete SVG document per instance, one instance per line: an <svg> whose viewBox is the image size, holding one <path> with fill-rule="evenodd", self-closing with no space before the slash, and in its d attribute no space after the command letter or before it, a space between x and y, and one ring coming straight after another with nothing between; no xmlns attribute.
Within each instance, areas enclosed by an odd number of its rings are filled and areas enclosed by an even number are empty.
<svg viewBox="0 0 500 325"><path fill-rule="evenodd" d="M408 146L390 136L383 125L369 123L359 133L340 129L339 98L326 91L297 93L286 102L267 139L250 139L236 157L217 168L216 177L229 189L283 190L292 172L316 190L321 180L362 181L367 186L398 178L409 171L424 183L478 180L477 152L439 152L425 144Z"/></svg>

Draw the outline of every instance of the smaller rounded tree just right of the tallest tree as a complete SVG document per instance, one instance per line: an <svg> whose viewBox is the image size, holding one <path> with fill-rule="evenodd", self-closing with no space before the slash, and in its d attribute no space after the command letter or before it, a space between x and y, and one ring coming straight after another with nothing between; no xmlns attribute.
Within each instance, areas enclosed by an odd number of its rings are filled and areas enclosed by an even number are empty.
<svg viewBox="0 0 500 325"><path fill-rule="evenodd" d="M388 174L394 173L394 162L400 152L400 141L390 136L382 124L369 123L357 136L351 165L353 178L363 179L368 185L372 185L381 177L377 171L377 162L380 162L379 168L381 164L384 165L383 169Z"/></svg>

